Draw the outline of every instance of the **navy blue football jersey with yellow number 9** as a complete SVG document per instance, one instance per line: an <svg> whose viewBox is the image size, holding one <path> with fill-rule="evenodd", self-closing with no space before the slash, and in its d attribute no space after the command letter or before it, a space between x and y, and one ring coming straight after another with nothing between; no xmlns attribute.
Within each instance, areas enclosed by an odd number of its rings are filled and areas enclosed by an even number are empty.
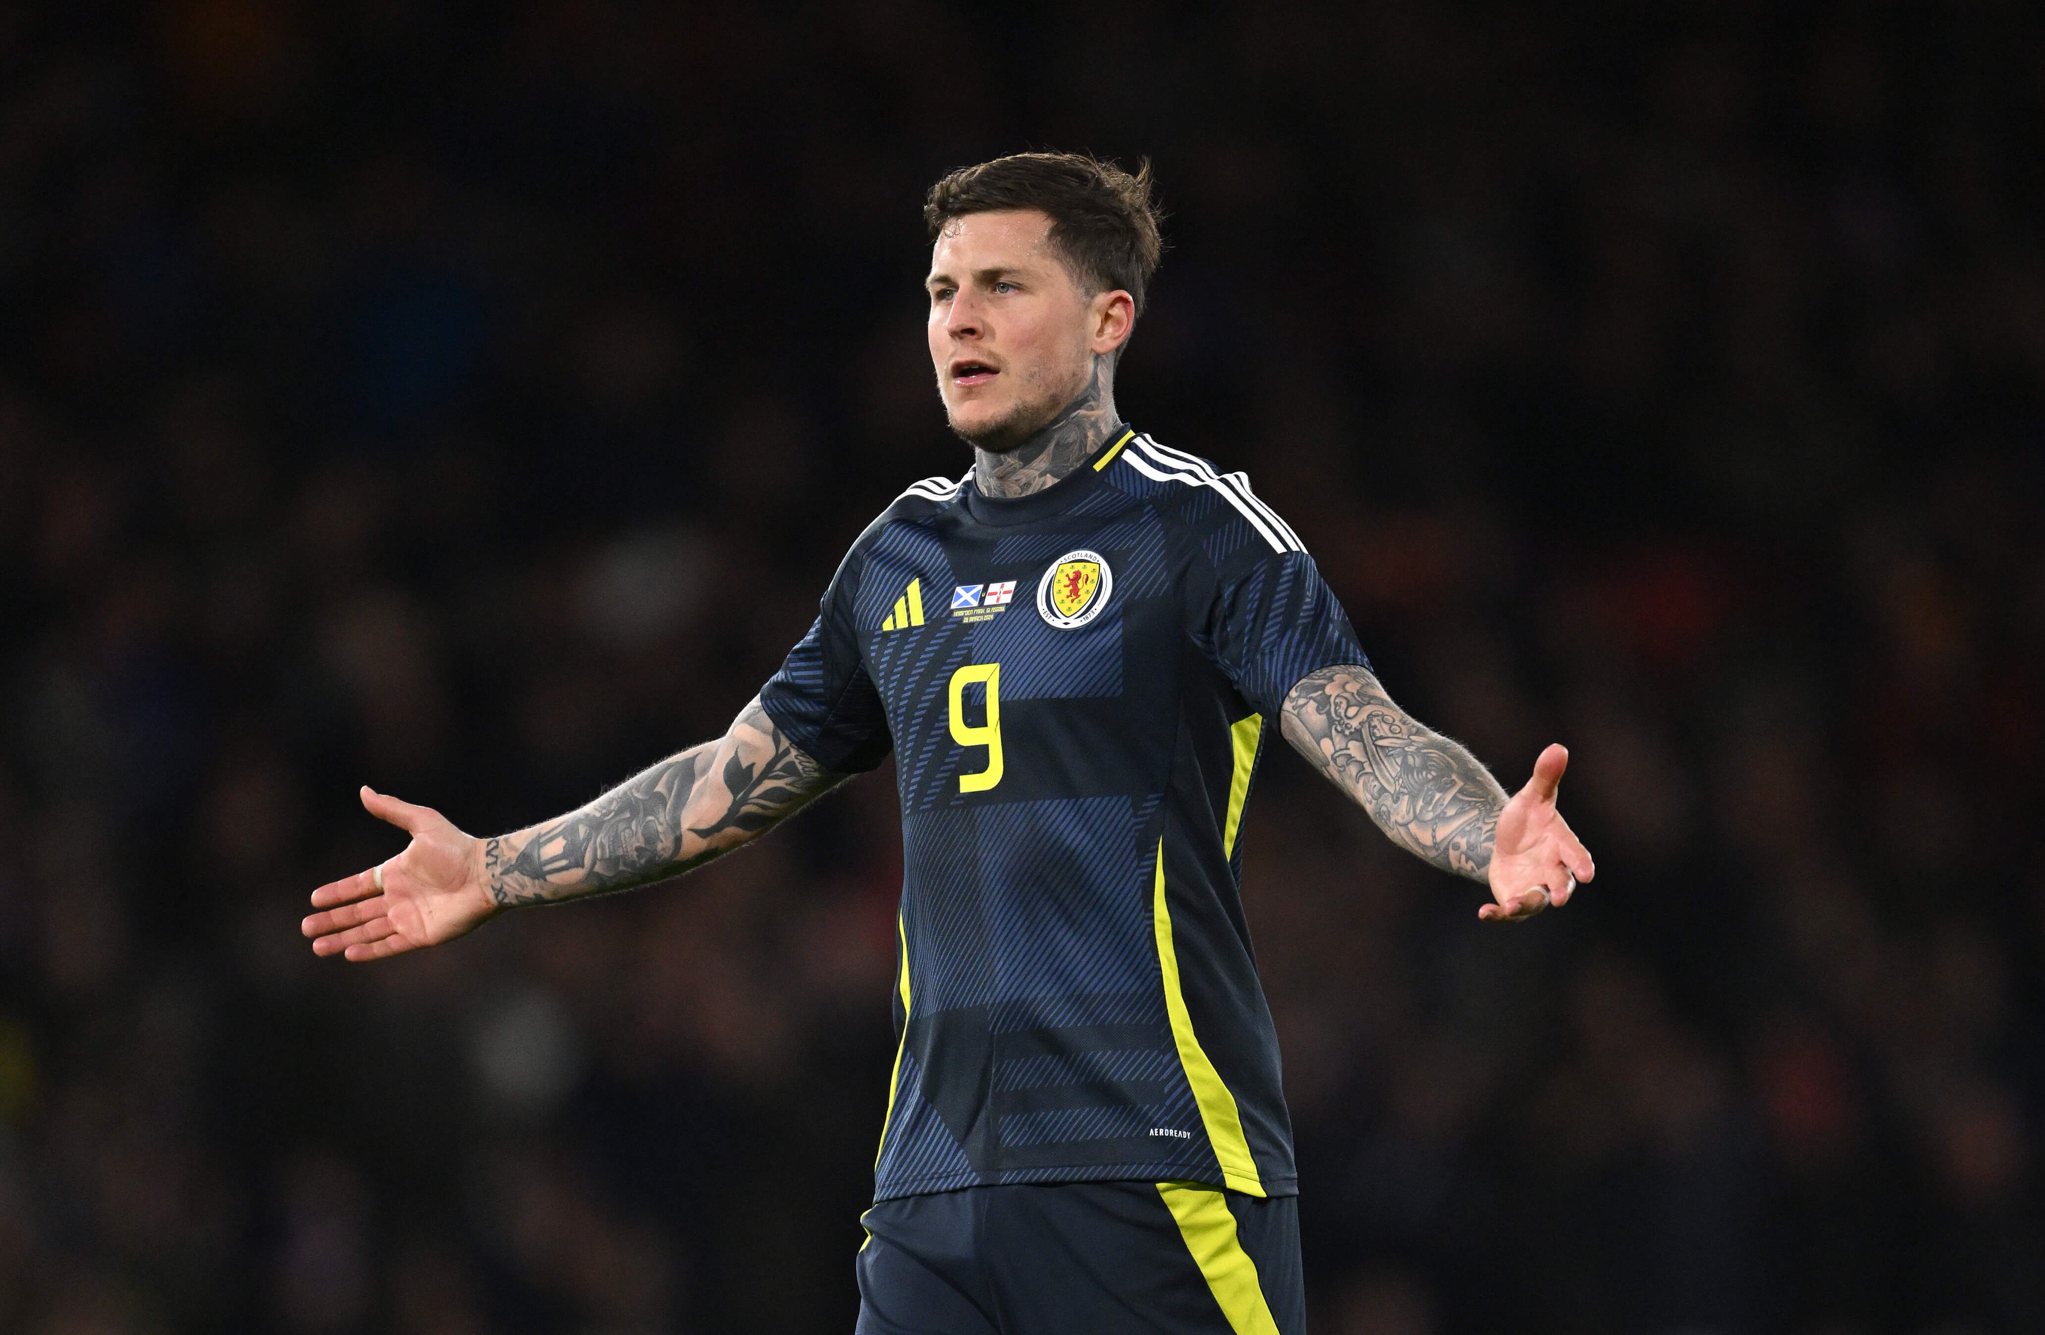
<svg viewBox="0 0 2045 1335"><path fill-rule="evenodd" d="M1243 474L1133 431L1031 497L916 482L859 536L761 703L826 769L896 756L875 1200L1294 1192L1237 832L1286 693L1346 662L1348 617Z"/></svg>

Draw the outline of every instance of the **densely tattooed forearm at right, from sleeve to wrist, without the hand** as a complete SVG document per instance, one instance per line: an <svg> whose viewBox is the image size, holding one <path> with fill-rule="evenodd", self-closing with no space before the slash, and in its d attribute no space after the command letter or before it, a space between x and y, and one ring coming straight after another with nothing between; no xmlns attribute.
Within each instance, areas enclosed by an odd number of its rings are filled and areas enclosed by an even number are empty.
<svg viewBox="0 0 2045 1335"><path fill-rule="evenodd" d="M1282 728L1393 842L1444 871L1485 879L1505 789L1460 742L1395 705L1366 669L1301 679L1286 695Z"/></svg>

